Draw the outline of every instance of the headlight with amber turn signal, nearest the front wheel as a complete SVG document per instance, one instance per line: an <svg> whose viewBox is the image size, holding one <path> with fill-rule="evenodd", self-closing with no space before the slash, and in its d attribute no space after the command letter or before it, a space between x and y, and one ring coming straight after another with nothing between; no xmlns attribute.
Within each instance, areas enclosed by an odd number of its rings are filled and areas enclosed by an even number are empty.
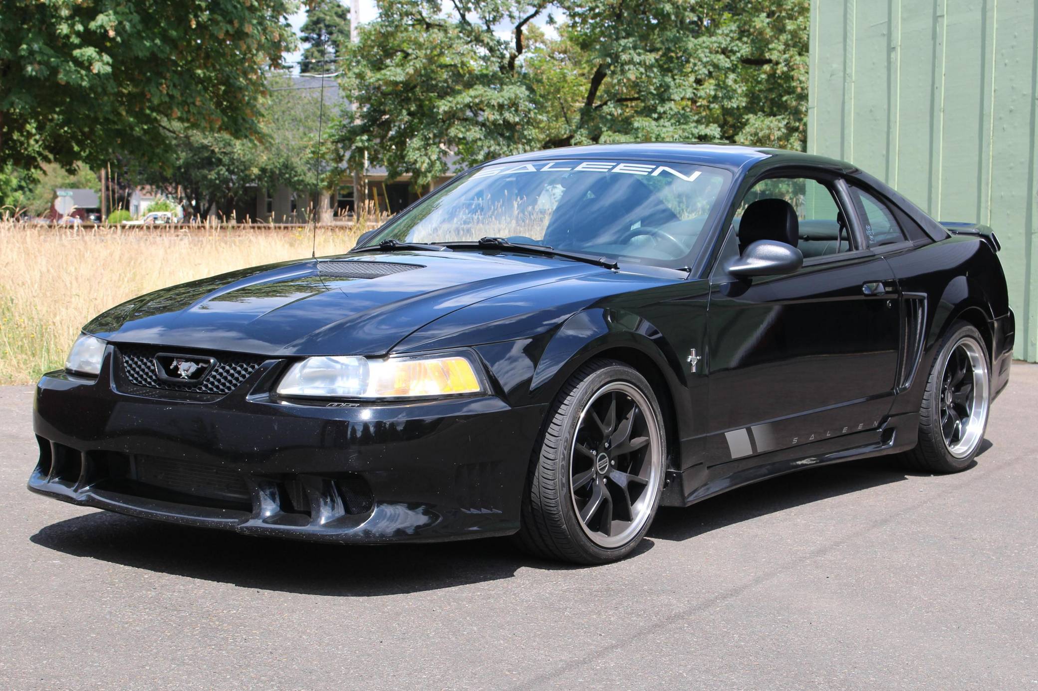
<svg viewBox="0 0 1038 691"><path fill-rule="evenodd" d="M277 392L284 396L416 398L485 391L471 361L458 354L371 360L312 357L292 365Z"/></svg>

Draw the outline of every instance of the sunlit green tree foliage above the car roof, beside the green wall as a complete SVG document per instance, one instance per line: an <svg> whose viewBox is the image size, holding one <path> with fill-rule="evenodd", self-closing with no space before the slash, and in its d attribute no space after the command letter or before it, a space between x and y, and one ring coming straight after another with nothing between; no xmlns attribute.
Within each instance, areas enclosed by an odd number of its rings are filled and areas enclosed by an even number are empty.
<svg viewBox="0 0 1038 691"><path fill-rule="evenodd" d="M366 155L424 185L446 151L473 164L609 141L803 145L810 0L378 3L344 56L361 105L335 140L353 165ZM557 37L534 23L553 7Z"/></svg>

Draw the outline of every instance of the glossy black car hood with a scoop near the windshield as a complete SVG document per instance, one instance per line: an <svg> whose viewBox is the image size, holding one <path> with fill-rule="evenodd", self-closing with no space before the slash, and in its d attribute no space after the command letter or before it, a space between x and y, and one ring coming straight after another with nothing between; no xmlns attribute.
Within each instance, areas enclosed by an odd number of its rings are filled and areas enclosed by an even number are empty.
<svg viewBox="0 0 1038 691"><path fill-rule="evenodd" d="M114 342L261 355L384 355L462 307L606 271L495 250L322 257L156 291L108 310L84 331Z"/></svg>

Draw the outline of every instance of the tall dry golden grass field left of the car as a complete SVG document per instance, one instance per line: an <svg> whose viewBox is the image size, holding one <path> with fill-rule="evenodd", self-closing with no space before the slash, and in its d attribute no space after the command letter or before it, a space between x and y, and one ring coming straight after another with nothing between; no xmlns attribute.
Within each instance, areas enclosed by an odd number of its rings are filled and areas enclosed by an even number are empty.
<svg viewBox="0 0 1038 691"><path fill-rule="evenodd" d="M351 226L319 227L318 256L354 245ZM310 255L312 227L60 229L0 221L0 384L60 367L95 314L156 288Z"/></svg>

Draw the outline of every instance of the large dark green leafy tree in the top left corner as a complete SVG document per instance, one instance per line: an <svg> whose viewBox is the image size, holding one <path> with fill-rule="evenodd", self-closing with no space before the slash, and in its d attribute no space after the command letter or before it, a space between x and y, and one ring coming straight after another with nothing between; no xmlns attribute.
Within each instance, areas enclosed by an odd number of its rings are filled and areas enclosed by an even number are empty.
<svg viewBox="0 0 1038 691"><path fill-rule="evenodd" d="M0 160L161 161L194 131L256 133L263 70L295 38L292 0L4 0Z"/></svg>

